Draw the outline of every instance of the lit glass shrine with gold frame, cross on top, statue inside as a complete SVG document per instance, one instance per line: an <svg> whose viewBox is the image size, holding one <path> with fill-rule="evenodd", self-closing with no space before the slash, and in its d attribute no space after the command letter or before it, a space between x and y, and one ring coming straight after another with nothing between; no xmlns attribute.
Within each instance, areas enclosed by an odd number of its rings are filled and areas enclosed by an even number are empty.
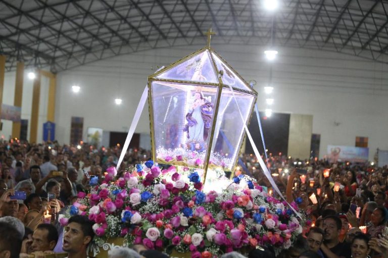
<svg viewBox="0 0 388 258"><path fill-rule="evenodd" d="M153 160L199 169L203 178L234 171L244 135L238 109L247 124L257 98L210 47L211 34L207 46L148 78Z"/></svg>

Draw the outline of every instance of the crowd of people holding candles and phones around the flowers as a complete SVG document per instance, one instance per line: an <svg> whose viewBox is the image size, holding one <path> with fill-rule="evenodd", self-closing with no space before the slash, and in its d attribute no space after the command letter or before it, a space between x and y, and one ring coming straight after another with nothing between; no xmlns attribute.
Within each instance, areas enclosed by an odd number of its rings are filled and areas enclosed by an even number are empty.
<svg viewBox="0 0 388 258"><path fill-rule="evenodd" d="M58 223L78 192L87 192L90 176L104 177L116 166L121 149L57 142L29 144L13 139L0 143L0 257L43 257L47 253L87 257L94 232L84 216L73 216L67 227ZM149 160L151 152L130 149L118 173ZM245 173L272 192L252 154L243 154L235 173ZM292 247L274 253L257 248L249 257L338 258L388 257L388 169L374 164L329 163L270 156L272 178L286 198L306 216L304 232ZM45 215L51 214L47 221ZM64 257L63 256L63 257ZM117 248L112 258L168 257L135 245ZM244 257L225 253L224 258Z"/></svg>

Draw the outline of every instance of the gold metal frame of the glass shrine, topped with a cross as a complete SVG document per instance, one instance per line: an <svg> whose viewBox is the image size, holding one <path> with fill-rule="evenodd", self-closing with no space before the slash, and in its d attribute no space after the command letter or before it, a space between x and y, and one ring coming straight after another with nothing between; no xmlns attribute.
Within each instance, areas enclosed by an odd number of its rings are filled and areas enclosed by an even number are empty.
<svg viewBox="0 0 388 258"><path fill-rule="evenodd" d="M255 103L257 101L257 95L258 93L256 92L255 89L253 89L252 87L250 87L250 85L247 83L247 81L244 80L243 77L241 77L212 47L210 47L210 36L212 35L212 31L211 29L208 31L207 33L208 35L208 44L195 51L194 53L191 53L190 55L182 58L182 59L179 59L177 60L176 62L170 64L169 66L161 69L160 71L150 75L148 77L148 102L149 102L149 116L150 116L150 135L151 135L151 146L152 146L152 159L154 160L154 162L157 161L157 157L156 157L156 139L155 139L155 125L154 125L154 106L153 106L153 87L152 87L152 84L154 82L162 82L162 83L176 83L176 84L189 84L189 85L198 85L198 86L205 86L207 88L209 87L214 87L217 89L216 91L216 98L215 98L215 109L214 109L214 112L213 112L213 120L212 120L212 127L210 129L210 137L208 138L208 147L206 149L206 156L205 156L205 164L204 164L204 181L206 181L206 175L207 175L207 170L209 168L209 160L210 160L210 154L211 154L211 149L212 149L212 145L213 145L213 139L214 139L214 131L215 131L215 122L217 121L217 117L218 117L218 109L219 109L219 104L220 104L220 100L221 100L221 93L222 93L222 90L225 88L225 89L229 89L229 86L224 84L223 81L222 81L222 75L220 75L220 72L218 71L217 69L217 65L216 65L216 62L213 58L213 55L216 55L217 58L219 58L223 63L226 64L227 68L230 69L246 86L247 88L249 88L250 90L245 90L245 89L240 89L240 88L235 88L235 87L232 87L233 91L236 92L238 95L251 95L251 96L254 96L254 101L252 102L252 107L251 107L251 110L250 110L250 113L249 113L249 119L248 121L246 121L246 125L248 126L249 123L250 123L250 120L252 118L252 115L253 115L253 110L254 110L254 107L255 107ZM209 56L210 58L210 63L211 63L211 66L217 76L217 79L218 79L218 83L210 83L210 82L201 82L201 81L189 81L189 80L176 80L176 79L163 79L163 78L157 78L160 74L174 68L175 66L203 53L204 51L207 52L207 55ZM238 148L239 151L238 151L238 154L237 154L237 157L236 157L236 160L234 162L234 165L231 167L231 172L232 172L232 176L234 175L234 170L235 170L235 167L236 167L236 164L238 162L238 157L239 157L239 153L241 152L241 147L243 146L243 141L246 137L246 133L243 133L244 134L244 137L241 137L240 141L239 141L239 145L238 145Z"/></svg>

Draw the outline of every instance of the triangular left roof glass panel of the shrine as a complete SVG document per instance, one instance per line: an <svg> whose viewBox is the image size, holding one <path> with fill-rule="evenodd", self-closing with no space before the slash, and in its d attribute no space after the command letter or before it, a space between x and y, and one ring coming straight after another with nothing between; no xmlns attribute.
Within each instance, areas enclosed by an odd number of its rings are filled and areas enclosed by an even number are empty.
<svg viewBox="0 0 388 258"><path fill-rule="evenodd" d="M209 51L205 50L197 56L175 65L166 72L158 75L156 78L218 83L218 79L214 68L211 65L208 53Z"/></svg>

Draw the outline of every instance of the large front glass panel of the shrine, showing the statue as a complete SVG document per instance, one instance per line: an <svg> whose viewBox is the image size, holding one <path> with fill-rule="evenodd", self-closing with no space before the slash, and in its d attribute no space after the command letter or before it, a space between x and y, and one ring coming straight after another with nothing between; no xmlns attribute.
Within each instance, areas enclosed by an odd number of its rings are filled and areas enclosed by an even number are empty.
<svg viewBox="0 0 388 258"><path fill-rule="evenodd" d="M157 162L203 168L217 87L152 82Z"/></svg>

